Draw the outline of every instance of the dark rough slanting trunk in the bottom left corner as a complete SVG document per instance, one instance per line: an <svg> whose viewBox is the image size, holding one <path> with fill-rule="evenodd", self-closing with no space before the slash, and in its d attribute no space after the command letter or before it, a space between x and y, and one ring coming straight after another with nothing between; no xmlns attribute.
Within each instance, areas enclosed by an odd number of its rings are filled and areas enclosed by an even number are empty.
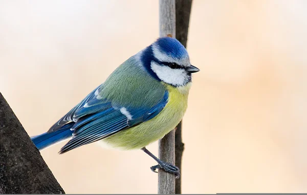
<svg viewBox="0 0 307 195"><path fill-rule="evenodd" d="M0 193L65 193L1 93Z"/></svg>

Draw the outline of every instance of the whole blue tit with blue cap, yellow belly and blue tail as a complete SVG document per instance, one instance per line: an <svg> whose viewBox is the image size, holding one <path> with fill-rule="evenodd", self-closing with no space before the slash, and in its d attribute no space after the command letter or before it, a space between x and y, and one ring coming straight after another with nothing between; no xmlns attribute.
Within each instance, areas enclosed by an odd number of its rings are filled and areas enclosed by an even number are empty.
<svg viewBox="0 0 307 195"><path fill-rule="evenodd" d="M187 109L191 74L198 71L177 39L159 38L32 141L42 150L71 138L60 154L95 141L123 150L141 149L158 162L151 170L162 168L179 177L178 167L145 147L179 124Z"/></svg>

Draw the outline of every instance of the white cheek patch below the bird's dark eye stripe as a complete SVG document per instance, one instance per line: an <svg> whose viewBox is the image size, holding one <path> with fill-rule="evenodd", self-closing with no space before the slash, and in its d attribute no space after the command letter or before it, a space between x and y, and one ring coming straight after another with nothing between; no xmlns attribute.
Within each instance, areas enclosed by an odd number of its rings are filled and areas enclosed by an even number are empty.
<svg viewBox="0 0 307 195"><path fill-rule="evenodd" d="M188 81L188 75L182 68L172 69L168 66L151 62L151 69L156 73L161 81L174 86L185 85Z"/></svg>

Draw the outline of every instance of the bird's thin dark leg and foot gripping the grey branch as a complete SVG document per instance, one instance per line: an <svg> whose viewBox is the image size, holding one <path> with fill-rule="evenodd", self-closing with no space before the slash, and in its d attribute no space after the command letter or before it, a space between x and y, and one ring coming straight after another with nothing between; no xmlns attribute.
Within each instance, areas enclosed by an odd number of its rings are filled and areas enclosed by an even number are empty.
<svg viewBox="0 0 307 195"><path fill-rule="evenodd" d="M159 158L157 158L155 155L153 155L151 152L149 152L145 147L141 148L142 151L144 151L146 154L148 154L151 158L155 159L158 164L155 166L151 166L150 169L155 172L158 173L156 171L156 169L158 168L162 168L165 172L170 173L170 174L174 174L176 176L176 179L180 178L180 169L175 166L172 165L170 163L164 162L162 160L160 160Z"/></svg>

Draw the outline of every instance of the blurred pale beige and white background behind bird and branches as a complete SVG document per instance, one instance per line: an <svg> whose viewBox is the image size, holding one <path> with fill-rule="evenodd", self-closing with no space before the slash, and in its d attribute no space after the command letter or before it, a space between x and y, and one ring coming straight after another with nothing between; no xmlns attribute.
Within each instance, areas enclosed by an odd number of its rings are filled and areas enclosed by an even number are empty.
<svg viewBox="0 0 307 195"><path fill-rule="evenodd" d="M193 1L184 193L307 192L306 9ZM29 135L46 132L158 31L158 1L1 1L0 91ZM157 192L142 151L63 144L41 154L65 192Z"/></svg>

